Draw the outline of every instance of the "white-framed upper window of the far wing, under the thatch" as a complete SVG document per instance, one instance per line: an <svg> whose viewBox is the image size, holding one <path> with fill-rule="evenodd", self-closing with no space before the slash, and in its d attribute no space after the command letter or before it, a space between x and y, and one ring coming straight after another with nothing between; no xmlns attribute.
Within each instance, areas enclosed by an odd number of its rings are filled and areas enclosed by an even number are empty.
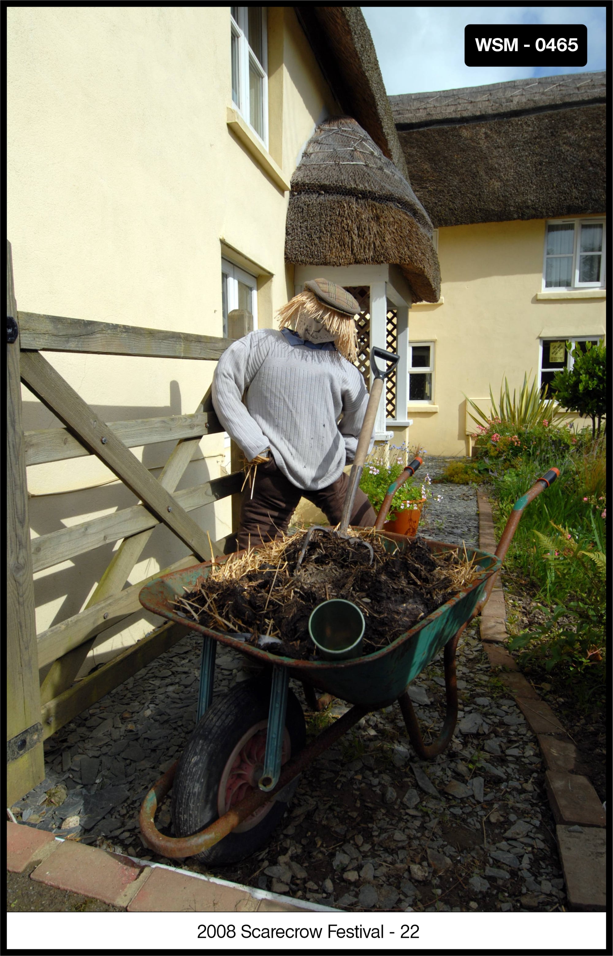
<svg viewBox="0 0 613 956"><path fill-rule="evenodd" d="M547 224L543 289L604 286L603 219L571 219Z"/></svg>

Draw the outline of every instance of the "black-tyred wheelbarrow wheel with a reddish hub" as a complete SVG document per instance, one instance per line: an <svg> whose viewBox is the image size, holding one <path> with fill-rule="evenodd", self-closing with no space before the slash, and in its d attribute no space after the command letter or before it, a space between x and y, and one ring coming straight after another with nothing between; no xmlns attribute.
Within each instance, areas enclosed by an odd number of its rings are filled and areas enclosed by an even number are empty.
<svg viewBox="0 0 613 956"><path fill-rule="evenodd" d="M270 682L256 678L218 698L187 741L172 788L171 815L177 836L190 836L227 813L257 787L264 764L271 702ZM304 715L288 691L281 763L304 747ZM193 857L203 863L235 863L271 836L296 791L297 779L281 798L264 804L228 836Z"/></svg>

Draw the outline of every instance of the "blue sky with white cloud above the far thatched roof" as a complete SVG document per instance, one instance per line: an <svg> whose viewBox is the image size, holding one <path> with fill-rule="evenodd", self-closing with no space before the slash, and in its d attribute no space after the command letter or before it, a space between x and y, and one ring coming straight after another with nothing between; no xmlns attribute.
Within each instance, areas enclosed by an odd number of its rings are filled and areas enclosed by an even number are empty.
<svg viewBox="0 0 613 956"><path fill-rule="evenodd" d="M602 7L362 7L387 96L482 86L530 76L605 69ZM464 28L470 23L564 24L587 27L584 67L468 67Z"/></svg>

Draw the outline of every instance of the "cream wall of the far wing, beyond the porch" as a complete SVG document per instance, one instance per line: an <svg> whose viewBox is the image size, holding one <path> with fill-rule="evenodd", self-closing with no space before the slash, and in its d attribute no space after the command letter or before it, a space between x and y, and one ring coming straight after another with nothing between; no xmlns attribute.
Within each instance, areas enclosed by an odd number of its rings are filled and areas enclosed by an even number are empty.
<svg viewBox="0 0 613 956"><path fill-rule="evenodd" d="M469 453L466 402L497 400L506 375L517 390L538 373L539 336L604 332L603 298L538 300L545 221L439 229L442 305L409 312L409 340L435 339L433 406L408 405L410 443L431 455ZM531 375L532 373L532 375Z"/></svg>

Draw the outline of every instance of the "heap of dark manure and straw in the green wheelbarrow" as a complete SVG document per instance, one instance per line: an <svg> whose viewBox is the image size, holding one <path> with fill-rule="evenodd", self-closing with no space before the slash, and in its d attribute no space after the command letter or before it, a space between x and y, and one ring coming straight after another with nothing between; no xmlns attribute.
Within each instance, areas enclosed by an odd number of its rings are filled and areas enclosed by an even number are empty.
<svg viewBox="0 0 613 956"><path fill-rule="evenodd" d="M364 654L395 641L467 585L480 569L455 549L436 554L422 538L393 553L372 529L350 529L372 546L356 547L328 532L315 532L296 572L306 532L284 536L257 550L211 566L175 608L217 633L303 661L316 660L308 621L321 601L351 600L365 620Z"/></svg>

